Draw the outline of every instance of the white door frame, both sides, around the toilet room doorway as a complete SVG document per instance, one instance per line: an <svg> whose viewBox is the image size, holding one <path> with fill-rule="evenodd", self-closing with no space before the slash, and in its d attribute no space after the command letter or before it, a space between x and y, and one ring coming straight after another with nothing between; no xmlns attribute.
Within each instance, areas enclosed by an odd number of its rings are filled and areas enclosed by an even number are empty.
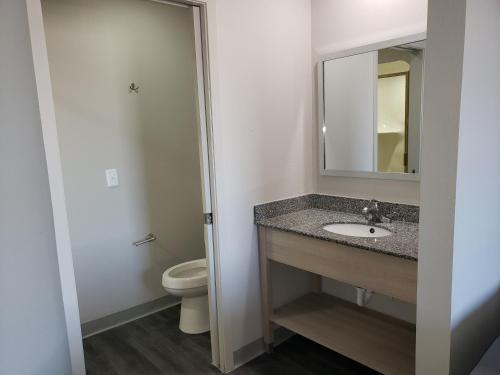
<svg viewBox="0 0 500 375"><path fill-rule="evenodd" d="M49 60L42 14L42 0L26 0L31 51L35 72L36 90L47 162L50 197L54 220L59 277L66 322L72 373L85 375L80 312L76 292L73 255L69 234L66 198L59 140L57 135L55 105L49 70ZM200 163L203 179L203 208L211 212L213 222L205 225L205 247L209 274L210 330L212 339L212 364L222 372L230 370L232 352L228 352L222 330L221 275L219 256L218 215L215 183L214 136L208 41L208 4L203 0L151 0L166 4L193 7L193 25L197 49L197 83L199 101ZM199 22L196 22L198 20ZM202 76L200 76L200 73ZM205 120L205 121L203 121ZM205 139L206 141L203 141ZM208 178L208 181L206 181ZM207 211L210 210L210 211Z"/></svg>

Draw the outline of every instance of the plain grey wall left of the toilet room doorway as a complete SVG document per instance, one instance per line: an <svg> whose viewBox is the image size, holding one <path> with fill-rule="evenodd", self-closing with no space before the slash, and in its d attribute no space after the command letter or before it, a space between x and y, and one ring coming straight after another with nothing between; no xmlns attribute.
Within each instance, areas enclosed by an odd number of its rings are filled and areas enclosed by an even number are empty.
<svg viewBox="0 0 500 375"><path fill-rule="evenodd" d="M24 1L0 2L0 373L71 364Z"/></svg>

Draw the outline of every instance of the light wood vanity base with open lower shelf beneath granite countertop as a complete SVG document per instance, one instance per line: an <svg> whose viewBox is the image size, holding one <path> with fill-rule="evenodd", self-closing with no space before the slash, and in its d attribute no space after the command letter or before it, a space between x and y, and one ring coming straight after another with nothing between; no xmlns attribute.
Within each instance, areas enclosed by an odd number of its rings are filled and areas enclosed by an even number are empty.
<svg viewBox="0 0 500 375"><path fill-rule="evenodd" d="M383 374L414 374L415 325L321 293L321 277L415 303L417 261L259 226L264 342L282 326ZM271 262L308 271L311 292L273 308Z"/></svg>

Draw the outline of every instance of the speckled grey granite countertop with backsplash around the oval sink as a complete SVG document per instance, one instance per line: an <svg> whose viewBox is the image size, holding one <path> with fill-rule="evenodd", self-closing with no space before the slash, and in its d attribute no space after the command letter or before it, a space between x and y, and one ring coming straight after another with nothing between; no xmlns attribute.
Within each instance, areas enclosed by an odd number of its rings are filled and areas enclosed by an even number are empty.
<svg viewBox="0 0 500 375"><path fill-rule="evenodd" d="M391 223L376 226L392 235L379 238L343 236L323 229L333 223L363 223L360 214L367 201L310 194L255 206L255 223L268 228L301 234L342 245L375 251L400 258L418 259L418 207L381 202L381 211Z"/></svg>

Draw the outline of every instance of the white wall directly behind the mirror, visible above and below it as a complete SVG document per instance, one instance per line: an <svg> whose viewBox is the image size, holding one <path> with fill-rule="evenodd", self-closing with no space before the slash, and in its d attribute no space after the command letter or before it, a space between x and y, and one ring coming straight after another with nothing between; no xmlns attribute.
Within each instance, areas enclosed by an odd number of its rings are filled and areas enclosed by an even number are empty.
<svg viewBox="0 0 500 375"><path fill-rule="evenodd" d="M427 0L311 0L311 5L314 69L318 55L426 30ZM316 85L315 73L314 77L313 82ZM316 104L314 108L317 108ZM316 118L315 112L314 118ZM315 191L418 204L418 182L320 176L317 128L315 120L313 124L314 165L311 172Z"/></svg>

